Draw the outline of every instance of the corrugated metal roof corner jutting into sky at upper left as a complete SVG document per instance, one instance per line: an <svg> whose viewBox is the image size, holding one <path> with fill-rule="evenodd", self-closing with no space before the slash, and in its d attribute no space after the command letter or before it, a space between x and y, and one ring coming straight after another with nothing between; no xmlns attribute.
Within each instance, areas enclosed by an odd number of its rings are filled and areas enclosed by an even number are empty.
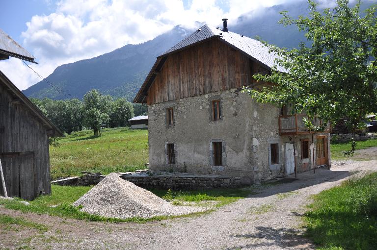
<svg viewBox="0 0 377 250"><path fill-rule="evenodd" d="M0 29L0 53L36 63L34 56Z"/></svg>

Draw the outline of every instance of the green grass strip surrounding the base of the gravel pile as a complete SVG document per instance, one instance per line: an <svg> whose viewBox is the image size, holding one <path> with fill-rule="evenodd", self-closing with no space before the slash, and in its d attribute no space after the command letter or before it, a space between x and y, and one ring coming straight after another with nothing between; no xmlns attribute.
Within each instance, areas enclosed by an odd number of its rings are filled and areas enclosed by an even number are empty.
<svg viewBox="0 0 377 250"><path fill-rule="evenodd" d="M81 212L80 207L72 206L72 203L78 200L82 195L88 192L92 187L85 186L59 186L52 185L52 195L40 196L35 200L29 201L30 205L24 205L19 202L20 199L15 200L0 200L0 205L12 210L19 210L21 212L32 212L38 214L48 214L58 216L61 218L73 218L87 221L102 221L102 222L136 222L145 223L148 221L161 221L165 219L188 217L192 215L201 215L213 211L213 209L205 212L197 212L182 216L155 216L144 219L139 217L129 218L126 220L106 218L98 215L91 215L86 212ZM151 192L163 197L168 191L154 189ZM186 192L171 192L174 201L193 201L200 202L203 200L215 200L215 207L229 204L236 200L242 199L250 194L248 189L212 189ZM178 202L179 203L179 202ZM177 204L177 202L176 202ZM198 204L199 205L199 204Z"/></svg>

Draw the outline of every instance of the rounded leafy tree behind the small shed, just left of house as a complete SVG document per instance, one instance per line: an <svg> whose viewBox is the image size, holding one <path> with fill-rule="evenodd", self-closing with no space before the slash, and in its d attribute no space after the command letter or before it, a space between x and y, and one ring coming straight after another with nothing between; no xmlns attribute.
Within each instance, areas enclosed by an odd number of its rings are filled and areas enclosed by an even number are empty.
<svg viewBox="0 0 377 250"><path fill-rule="evenodd" d="M125 98L119 98L112 103L110 127L129 125L128 120L134 117L134 106Z"/></svg>

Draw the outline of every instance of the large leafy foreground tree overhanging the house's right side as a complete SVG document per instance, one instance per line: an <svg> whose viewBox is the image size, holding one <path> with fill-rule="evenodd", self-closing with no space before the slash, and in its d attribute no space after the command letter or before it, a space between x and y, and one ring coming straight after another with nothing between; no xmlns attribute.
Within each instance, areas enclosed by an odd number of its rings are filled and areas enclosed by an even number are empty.
<svg viewBox="0 0 377 250"><path fill-rule="evenodd" d="M269 75L256 75L257 80L275 85L246 91L259 102L293 103L293 113L318 115L322 125L305 121L313 130L321 131L328 121L346 117L347 127L354 132L367 113L377 112L376 5L361 16L360 1L350 7L349 0L337 0L335 8L323 13L314 1L308 3L309 17L293 19L283 11L280 23L297 25L309 46L300 43L287 51L265 43L278 55L276 64L288 73L275 67Z"/></svg>

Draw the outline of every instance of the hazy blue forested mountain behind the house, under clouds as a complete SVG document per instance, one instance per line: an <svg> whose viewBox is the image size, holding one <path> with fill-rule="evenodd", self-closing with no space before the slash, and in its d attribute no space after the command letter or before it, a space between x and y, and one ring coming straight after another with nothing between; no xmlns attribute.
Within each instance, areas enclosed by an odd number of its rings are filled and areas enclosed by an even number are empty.
<svg viewBox="0 0 377 250"><path fill-rule="evenodd" d="M279 11L288 10L293 17L307 15L307 4L275 5L258 13L239 17L237 25L228 23L230 31L262 40L280 47L294 48L305 37L296 26L279 25ZM201 24L198 23L198 27ZM221 28L221 27L220 27ZM46 79L60 90L69 93L70 98L82 98L90 89L98 89L113 97L132 100L143 83L156 57L169 49L193 30L175 26L172 30L137 45L126 45L109 53L57 67ZM66 99L45 81L40 81L24 90L28 97Z"/></svg>

